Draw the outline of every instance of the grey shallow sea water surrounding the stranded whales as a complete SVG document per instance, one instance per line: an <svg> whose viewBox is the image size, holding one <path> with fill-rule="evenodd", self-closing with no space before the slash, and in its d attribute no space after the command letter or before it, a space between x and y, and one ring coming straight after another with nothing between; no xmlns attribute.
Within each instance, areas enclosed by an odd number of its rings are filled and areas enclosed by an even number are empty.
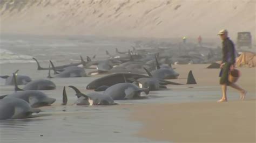
<svg viewBox="0 0 256 143"><path fill-rule="evenodd" d="M11 75L19 69L18 74L29 75L32 79L45 78L48 71L37 70L31 57L37 58L42 67L48 67L49 60L57 66L78 62L79 55L85 59L87 55L97 54L97 59L104 59L107 58L105 50L114 53L116 47L124 51L134 45L132 41L113 38L18 35L2 36L0 42L0 75ZM219 87L170 85L170 89L150 92L148 99L116 101L119 105L114 106L73 106L76 101L75 91L66 88L68 105L60 106L63 86L74 85L84 93L93 92L85 87L100 76L52 78L51 81L57 85L56 90L43 92L57 101L52 106L41 108L42 112L35 115L38 116L36 118L0 121L0 142L159 142L133 135L142 124L130 121L131 111L123 108L122 104L216 101L220 95L216 91ZM4 85L4 80L0 79L0 95L11 92L14 92L14 87ZM238 96L237 93L233 94ZM235 98L232 96L230 99Z"/></svg>

